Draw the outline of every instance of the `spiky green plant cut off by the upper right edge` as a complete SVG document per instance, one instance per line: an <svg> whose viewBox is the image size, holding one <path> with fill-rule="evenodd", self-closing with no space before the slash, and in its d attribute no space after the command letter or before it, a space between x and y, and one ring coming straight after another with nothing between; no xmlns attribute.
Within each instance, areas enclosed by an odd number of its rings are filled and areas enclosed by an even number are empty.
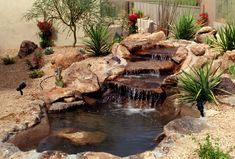
<svg viewBox="0 0 235 159"><path fill-rule="evenodd" d="M226 24L218 31L218 36L212 39L212 46L219 47L221 51L235 49L235 26L232 24Z"/></svg>

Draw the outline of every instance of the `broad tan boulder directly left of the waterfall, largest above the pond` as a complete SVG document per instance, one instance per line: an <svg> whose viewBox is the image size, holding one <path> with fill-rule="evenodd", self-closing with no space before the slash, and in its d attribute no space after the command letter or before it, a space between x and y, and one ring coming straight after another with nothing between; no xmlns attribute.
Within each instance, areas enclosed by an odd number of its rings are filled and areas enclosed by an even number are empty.
<svg viewBox="0 0 235 159"><path fill-rule="evenodd" d="M126 65L125 59L113 55L92 57L67 68L64 81L68 88L81 93L96 92L106 79L123 73Z"/></svg>

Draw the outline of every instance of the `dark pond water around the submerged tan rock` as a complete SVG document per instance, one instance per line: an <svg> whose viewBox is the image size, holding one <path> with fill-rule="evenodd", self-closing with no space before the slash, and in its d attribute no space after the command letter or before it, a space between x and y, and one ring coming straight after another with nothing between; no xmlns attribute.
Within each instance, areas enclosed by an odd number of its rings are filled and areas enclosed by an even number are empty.
<svg viewBox="0 0 235 159"><path fill-rule="evenodd" d="M107 152L128 156L154 149L154 138L162 132L163 123L154 116L154 110L132 108L107 108L102 105L96 111L75 111L50 114L50 134L38 145L37 151L60 150L69 154L85 151ZM56 137L60 129L74 128L80 131L103 132L107 138L99 144L76 145L67 139Z"/></svg>

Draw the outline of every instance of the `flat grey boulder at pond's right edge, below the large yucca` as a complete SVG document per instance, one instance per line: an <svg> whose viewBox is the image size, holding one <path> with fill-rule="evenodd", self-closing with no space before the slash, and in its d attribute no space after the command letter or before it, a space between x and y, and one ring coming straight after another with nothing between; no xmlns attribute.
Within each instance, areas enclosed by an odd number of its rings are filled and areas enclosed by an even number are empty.
<svg viewBox="0 0 235 159"><path fill-rule="evenodd" d="M200 133L207 128L207 124L200 118L185 116L180 119L175 119L164 126L166 136L187 135L191 133Z"/></svg>

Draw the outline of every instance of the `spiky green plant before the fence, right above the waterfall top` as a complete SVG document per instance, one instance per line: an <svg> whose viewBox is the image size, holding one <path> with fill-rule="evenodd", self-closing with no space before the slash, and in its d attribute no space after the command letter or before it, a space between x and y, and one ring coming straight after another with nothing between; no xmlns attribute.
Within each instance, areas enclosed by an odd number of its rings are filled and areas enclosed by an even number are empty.
<svg viewBox="0 0 235 159"><path fill-rule="evenodd" d="M196 19L192 14L187 13L176 19L175 25L171 27L171 33L176 39L190 40L195 36L198 28Z"/></svg>

